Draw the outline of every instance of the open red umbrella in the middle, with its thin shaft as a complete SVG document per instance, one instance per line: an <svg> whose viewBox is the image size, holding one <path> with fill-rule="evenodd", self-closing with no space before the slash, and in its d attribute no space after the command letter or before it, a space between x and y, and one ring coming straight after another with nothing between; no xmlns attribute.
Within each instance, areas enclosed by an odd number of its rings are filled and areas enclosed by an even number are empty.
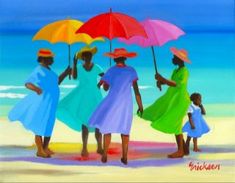
<svg viewBox="0 0 235 183"><path fill-rule="evenodd" d="M100 36L108 38L110 40L110 52L112 51L111 41L113 38L147 37L144 28L135 18L123 13L114 13L111 9L109 13L99 14L89 19L76 33L86 33L92 38Z"/></svg>

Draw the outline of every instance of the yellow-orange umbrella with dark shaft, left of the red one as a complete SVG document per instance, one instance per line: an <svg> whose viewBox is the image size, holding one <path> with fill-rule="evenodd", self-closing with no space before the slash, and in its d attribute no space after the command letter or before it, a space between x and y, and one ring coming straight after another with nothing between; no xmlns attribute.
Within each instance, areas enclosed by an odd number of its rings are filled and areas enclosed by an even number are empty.
<svg viewBox="0 0 235 183"><path fill-rule="evenodd" d="M83 22L66 19L50 23L41 28L33 37L34 40L46 40L50 43L67 43L69 49L69 66L70 66L70 45L75 42L82 42L87 45L94 41L104 41L99 37L96 39L91 38L88 34L81 33L75 34L75 32L83 25Z"/></svg>

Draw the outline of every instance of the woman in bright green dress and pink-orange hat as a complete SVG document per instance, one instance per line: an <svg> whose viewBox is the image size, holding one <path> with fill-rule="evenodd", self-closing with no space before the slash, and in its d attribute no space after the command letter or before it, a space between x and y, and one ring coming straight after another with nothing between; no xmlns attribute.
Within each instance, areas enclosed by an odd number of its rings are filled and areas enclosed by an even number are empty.
<svg viewBox="0 0 235 183"><path fill-rule="evenodd" d="M171 48L174 57L172 63L176 68L171 76L171 80L165 79L160 74L156 74L157 87L161 90L161 85L168 85L166 93L157 99L143 112L143 119L151 121L151 126L163 133L175 134L178 150L168 155L169 158L181 158L188 154L183 135L183 118L190 105L190 98L187 92L187 81L189 77L188 69L184 63L190 63L187 52Z"/></svg>

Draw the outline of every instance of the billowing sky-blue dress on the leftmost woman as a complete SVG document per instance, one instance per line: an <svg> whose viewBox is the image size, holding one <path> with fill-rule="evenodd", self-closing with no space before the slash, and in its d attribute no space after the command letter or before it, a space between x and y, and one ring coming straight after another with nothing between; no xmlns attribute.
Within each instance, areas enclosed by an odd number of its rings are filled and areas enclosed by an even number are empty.
<svg viewBox="0 0 235 183"><path fill-rule="evenodd" d="M54 124L60 90L58 76L52 70L38 66L25 83L32 83L42 89L38 95L31 91L9 112L10 121L20 121L35 135L50 137Z"/></svg>

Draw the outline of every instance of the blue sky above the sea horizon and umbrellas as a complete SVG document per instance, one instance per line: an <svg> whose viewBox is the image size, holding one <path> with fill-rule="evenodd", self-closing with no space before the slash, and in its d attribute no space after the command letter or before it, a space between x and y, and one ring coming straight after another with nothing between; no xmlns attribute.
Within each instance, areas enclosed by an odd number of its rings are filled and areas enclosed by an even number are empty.
<svg viewBox="0 0 235 183"><path fill-rule="evenodd" d="M66 17L86 21L109 8L189 31L235 30L234 0L0 0L0 31L35 31Z"/></svg>

